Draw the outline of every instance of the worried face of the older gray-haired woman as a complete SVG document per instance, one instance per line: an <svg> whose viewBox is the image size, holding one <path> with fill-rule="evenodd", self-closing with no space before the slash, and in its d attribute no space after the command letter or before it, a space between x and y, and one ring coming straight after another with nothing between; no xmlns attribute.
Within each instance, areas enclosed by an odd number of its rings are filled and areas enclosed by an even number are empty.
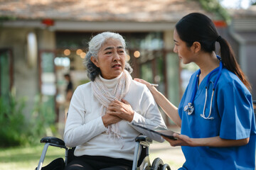
<svg viewBox="0 0 256 170"><path fill-rule="evenodd" d="M104 79L114 79L124 70L124 47L119 40L109 38L100 48L97 59L91 57L91 61L100 68Z"/></svg>

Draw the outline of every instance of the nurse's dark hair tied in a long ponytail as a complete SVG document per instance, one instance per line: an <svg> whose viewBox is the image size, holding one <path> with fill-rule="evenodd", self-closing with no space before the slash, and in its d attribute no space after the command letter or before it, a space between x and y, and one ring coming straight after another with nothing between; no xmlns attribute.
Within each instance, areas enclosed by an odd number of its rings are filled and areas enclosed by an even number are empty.
<svg viewBox="0 0 256 170"><path fill-rule="evenodd" d="M251 90L251 86L245 74L240 69L238 62L235 59L232 47L227 40L220 37L213 21L202 13L190 13L181 18L176 23L176 31L179 38L186 42L188 47L193 45L193 42L200 42L201 50L205 52L213 52L215 50L215 42L220 43L220 57L225 68L236 74L247 89Z"/></svg>

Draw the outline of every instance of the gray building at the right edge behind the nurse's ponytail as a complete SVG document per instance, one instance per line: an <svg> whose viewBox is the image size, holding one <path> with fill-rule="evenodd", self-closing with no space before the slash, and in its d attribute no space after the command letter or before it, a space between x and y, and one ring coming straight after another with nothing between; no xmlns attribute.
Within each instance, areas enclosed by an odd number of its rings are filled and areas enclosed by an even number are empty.
<svg viewBox="0 0 256 170"><path fill-rule="evenodd" d="M252 85L252 98L256 100L256 5L229 13L232 23L228 35L240 67Z"/></svg>

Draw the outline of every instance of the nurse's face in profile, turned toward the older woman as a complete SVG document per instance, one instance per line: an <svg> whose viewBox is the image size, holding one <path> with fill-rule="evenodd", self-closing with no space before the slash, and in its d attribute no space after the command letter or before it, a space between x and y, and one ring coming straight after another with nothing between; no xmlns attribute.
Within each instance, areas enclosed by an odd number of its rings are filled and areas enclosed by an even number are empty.
<svg viewBox="0 0 256 170"><path fill-rule="evenodd" d="M176 29L174 30L174 52L178 54L183 64L193 62L191 48L186 45L185 41L181 40Z"/></svg>

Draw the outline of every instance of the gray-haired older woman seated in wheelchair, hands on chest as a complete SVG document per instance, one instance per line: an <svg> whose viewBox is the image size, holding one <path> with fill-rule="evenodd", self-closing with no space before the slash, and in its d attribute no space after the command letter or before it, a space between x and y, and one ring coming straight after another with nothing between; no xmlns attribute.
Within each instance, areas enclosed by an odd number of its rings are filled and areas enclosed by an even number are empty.
<svg viewBox="0 0 256 170"><path fill-rule="evenodd" d="M132 80L126 55L125 41L117 33L90 40L85 64L91 81L75 90L65 125L65 144L76 147L66 169L131 169L139 134L164 141L132 125L166 128L150 91Z"/></svg>

